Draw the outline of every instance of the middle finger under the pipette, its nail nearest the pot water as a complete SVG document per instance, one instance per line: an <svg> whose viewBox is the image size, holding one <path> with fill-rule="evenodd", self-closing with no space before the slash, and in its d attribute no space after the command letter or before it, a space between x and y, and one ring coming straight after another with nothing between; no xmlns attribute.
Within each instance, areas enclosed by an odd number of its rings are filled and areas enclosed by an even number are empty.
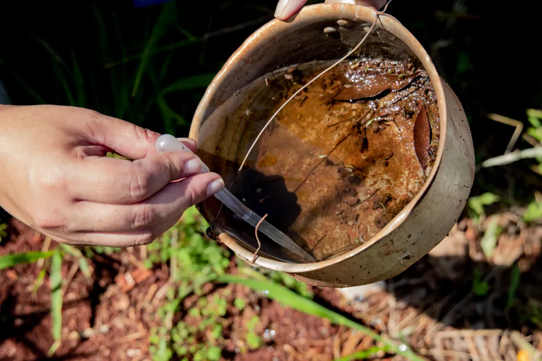
<svg viewBox="0 0 542 361"><path fill-rule="evenodd" d="M157 226L179 219L183 212L224 187L218 174L202 173L170 183L158 193L132 205L78 202L73 226L78 232L122 232Z"/></svg>

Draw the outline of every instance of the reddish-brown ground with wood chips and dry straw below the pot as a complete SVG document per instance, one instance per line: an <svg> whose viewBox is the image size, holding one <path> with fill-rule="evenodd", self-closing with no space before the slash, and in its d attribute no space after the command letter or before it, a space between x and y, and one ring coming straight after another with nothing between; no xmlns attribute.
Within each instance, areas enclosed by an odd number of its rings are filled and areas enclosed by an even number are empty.
<svg viewBox="0 0 542 361"><path fill-rule="evenodd" d="M482 218L474 226L471 219L463 218L429 255L386 281L386 290L347 301L337 290L314 288L314 299L385 337L404 339L429 359L516 360L523 348L521 340L542 351L540 315L533 311L542 305L538 260L542 226L525 225L513 211L494 216L504 231L491 259L479 245L488 220ZM11 220L9 234L0 245L0 255L42 247L44 237L16 220ZM64 291L63 342L53 359L151 359L149 334L152 327L161 326L154 314L165 302L163 286L169 275L165 265L145 270L140 258L138 248L95 255L91 279L80 271L70 274L73 262L63 262L63 277L73 278ZM521 278L516 300L507 307L512 271L506 265L514 262ZM0 271L2 360L44 359L53 344L47 276L33 293L38 272L36 264ZM230 272L236 272L234 262ZM474 279L486 282L488 291L476 294ZM283 308L244 286L208 284L204 290L208 297L218 293L228 300L229 326L223 331L224 343L218 345L224 359L332 360L375 345L360 332ZM247 300L242 312L232 306L235 298ZM186 298L184 311L175 319L189 322L185 311L194 301ZM259 316L255 332L264 344L240 352L243 325L254 315ZM391 357L377 355L377 359Z"/></svg>

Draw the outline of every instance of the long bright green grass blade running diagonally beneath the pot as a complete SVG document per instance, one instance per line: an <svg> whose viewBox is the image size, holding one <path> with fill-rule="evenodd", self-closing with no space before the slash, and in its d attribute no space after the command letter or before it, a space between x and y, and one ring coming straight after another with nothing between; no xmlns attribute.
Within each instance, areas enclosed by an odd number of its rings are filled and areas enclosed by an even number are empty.
<svg viewBox="0 0 542 361"><path fill-rule="evenodd" d="M399 347L389 340L383 339L377 333L371 331L369 328L358 324L356 321L352 321L349 318L344 317L343 315L328 310L326 307L315 303L312 300L309 300L305 297L299 296L299 294L288 290L288 288L280 286L272 281L260 281L252 280L247 278L238 277L236 275L223 275L217 278L221 283L237 283L251 288L254 291L263 292L266 297L279 301L282 305L291 307L294 310L298 310L304 313L307 313L311 316L316 316L320 318L326 318L331 320L332 323L338 325L344 325L350 327L353 330L358 330L363 332L367 336L371 337L376 342L381 342L387 347L390 351L395 352L397 355L403 356L409 360L423 360L420 356L412 352L408 347L406 351L401 351Z"/></svg>

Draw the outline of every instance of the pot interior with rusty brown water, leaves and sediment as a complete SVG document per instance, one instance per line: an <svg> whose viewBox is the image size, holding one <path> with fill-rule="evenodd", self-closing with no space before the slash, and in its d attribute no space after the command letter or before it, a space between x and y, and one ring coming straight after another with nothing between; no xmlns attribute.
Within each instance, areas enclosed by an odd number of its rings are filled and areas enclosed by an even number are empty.
<svg viewBox="0 0 542 361"><path fill-rule="evenodd" d="M371 242L430 173L438 107L414 52L377 26L356 54L280 111L237 170L275 111L370 26L360 19L305 19L253 42L222 77L196 132L198 155L211 171L317 261ZM255 250L254 227L214 197L198 209L211 237L225 232ZM261 232L259 239L260 255L303 262Z"/></svg>

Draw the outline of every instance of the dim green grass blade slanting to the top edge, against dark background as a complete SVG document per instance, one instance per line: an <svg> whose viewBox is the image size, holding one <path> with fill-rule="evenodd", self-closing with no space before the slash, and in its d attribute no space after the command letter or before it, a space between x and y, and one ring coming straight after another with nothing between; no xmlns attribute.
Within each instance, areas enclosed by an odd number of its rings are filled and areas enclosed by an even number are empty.
<svg viewBox="0 0 542 361"><path fill-rule="evenodd" d="M139 84L141 83L141 78L143 78L143 73L145 72L145 69L147 67L147 64L149 63L149 59L152 56L152 51L156 47L156 44L162 38L167 30L170 28L171 25L175 24L177 19L177 8L175 6L175 3L166 3L162 9L162 12L160 12L160 15L158 17L158 20L154 24L154 27L152 28L151 37L149 39L149 42L147 42L147 45L145 46L145 49L143 50L143 54L141 55L141 61L139 62L139 68L137 70L137 74L135 75L135 81L134 86L132 89L132 97L137 94L137 91L139 89Z"/></svg>

